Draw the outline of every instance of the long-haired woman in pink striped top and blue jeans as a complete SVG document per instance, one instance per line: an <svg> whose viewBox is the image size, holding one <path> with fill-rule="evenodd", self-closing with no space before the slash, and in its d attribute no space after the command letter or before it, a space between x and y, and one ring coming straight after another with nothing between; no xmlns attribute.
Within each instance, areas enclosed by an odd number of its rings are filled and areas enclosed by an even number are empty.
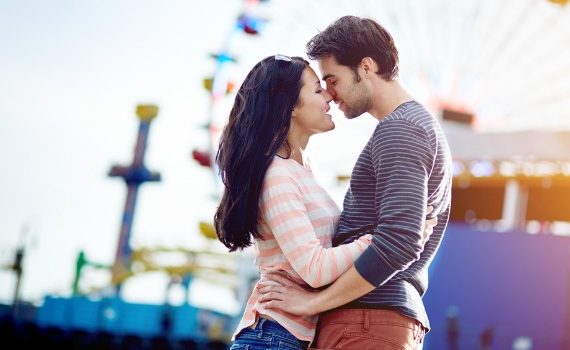
<svg viewBox="0 0 570 350"><path fill-rule="evenodd" d="M312 135L335 127L331 100L307 61L283 55L257 63L235 98L216 158L225 189L214 222L230 251L254 243L261 280L280 272L304 286L330 284L370 243L366 234L331 247L340 210L305 155ZM305 349L316 321L265 309L254 288L231 349Z"/></svg>

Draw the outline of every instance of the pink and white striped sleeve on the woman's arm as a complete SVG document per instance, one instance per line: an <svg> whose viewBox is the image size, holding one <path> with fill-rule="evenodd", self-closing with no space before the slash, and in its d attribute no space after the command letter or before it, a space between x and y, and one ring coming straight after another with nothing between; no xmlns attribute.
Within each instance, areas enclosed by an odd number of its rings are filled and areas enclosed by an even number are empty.
<svg viewBox="0 0 570 350"><path fill-rule="evenodd" d="M260 214L287 261L313 288L334 282L370 244L371 235L365 235L350 244L323 247L309 219L299 185L284 167L266 174Z"/></svg>

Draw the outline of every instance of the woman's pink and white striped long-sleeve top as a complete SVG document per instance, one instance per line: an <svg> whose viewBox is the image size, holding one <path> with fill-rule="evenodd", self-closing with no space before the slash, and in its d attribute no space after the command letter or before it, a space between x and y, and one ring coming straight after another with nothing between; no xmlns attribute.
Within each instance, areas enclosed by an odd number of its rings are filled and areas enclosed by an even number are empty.
<svg viewBox="0 0 570 350"><path fill-rule="evenodd" d="M353 266L370 244L371 235L332 248L339 214L340 209L311 170L292 159L275 157L265 175L260 198L259 232L264 239L254 243L260 280L268 272L279 271L300 285L317 288L332 283ZM234 337L253 325L258 315L265 315L295 337L313 340L316 317L266 310L259 300L260 294L253 288Z"/></svg>

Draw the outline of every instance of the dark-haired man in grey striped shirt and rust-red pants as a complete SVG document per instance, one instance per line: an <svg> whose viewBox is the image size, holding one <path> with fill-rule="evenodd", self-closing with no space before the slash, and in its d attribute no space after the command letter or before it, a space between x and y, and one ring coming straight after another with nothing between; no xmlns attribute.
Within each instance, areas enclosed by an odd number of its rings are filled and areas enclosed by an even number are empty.
<svg viewBox="0 0 570 350"><path fill-rule="evenodd" d="M368 112L378 119L352 171L333 244L365 233L374 238L354 266L322 291L273 276L282 286L261 288L265 306L322 313L312 344L317 349L421 349L430 329L422 296L451 205L447 141L437 120L396 80L398 51L377 22L342 17L309 41L307 55L318 60L327 91L346 118ZM428 218L438 224L424 245L428 206L434 208Z"/></svg>

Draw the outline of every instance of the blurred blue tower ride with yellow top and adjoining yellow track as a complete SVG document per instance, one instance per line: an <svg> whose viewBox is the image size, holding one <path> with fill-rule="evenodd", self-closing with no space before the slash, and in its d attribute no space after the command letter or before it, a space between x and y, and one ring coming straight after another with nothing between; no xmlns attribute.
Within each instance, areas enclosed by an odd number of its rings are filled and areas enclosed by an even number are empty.
<svg viewBox="0 0 570 350"><path fill-rule="evenodd" d="M148 133L152 120L158 114L158 107L154 105L139 105L136 114L140 120L139 132L136 141L134 158L129 166L115 165L109 171L111 177L121 177L127 186L127 198L123 212L123 220L119 232L119 240L115 255L115 262L112 266L89 261L86 254L81 251L76 262L76 274L73 282L73 294L92 294L95 289L83 291L80 288L81 275L84 268L110 269L110 284L120 293L122 283L128 278L142 273L161 271L173 279L186 281L183 285L188 288L190 278L188 276L202 276L210 280L216 280L216 276L223 275L225 283L237 285L235 276L237 275L236 259L227 254L215 253L207 250L198 251L183 248L149 248L141 247L133 249L131 242L131 229L134 220L135 207L139 186L149 181L160 181L160 174L149 171L145 164L145 152L147 146ZM211 232L209 225L202 223L201 232L209 239L217 239L215 233ZM165 264L165 255L177 255L183 261L179 264ZM162 258L162 259L161 259ZM106 287L103 287L106 288Z"/></svg>

